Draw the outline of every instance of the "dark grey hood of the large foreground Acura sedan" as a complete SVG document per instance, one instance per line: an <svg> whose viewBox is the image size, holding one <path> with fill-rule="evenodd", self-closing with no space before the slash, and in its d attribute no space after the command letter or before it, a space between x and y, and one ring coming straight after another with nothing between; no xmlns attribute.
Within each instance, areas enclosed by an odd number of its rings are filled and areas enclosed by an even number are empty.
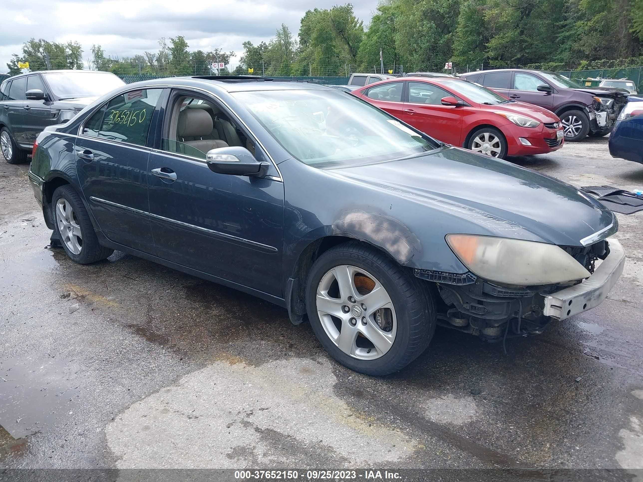
<svg viewBox="0 0 643 482"><path fill-rule="evenodd" d="M370 184L381 195L453 215L453 225L436 226L436 232L468 232L462 229L473 223L479 228L473 234L579 246L583 238L613 224L606 229L606 235L612 234L618 226L610 210L574 186L462 148L331 172ZM430 223L427 212L422 222ZM457 218L465 222L458 225Z"/></svg>

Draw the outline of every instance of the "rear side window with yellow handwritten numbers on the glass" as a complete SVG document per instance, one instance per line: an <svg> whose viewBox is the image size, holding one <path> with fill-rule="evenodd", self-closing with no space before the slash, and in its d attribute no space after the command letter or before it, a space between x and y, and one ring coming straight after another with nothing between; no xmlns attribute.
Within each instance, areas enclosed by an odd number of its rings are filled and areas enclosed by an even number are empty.
<svg viewBox="0 0 643 482"><path fill-rule="evenodd" d="M114 97L87 120L83 134L144 146L162 90L141 89Z"/></svg>

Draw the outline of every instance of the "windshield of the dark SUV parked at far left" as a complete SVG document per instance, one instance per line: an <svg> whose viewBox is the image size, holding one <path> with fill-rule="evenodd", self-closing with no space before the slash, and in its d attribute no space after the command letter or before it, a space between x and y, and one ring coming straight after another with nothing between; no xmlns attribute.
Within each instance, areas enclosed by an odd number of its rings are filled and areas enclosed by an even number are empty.
<svg viewBox="0 0 643 482"><path fill-rule="evenodd" d="M125 85L117 76L102 72L53 72L44 74L52 93L60 100L98 97Z"/></svg>

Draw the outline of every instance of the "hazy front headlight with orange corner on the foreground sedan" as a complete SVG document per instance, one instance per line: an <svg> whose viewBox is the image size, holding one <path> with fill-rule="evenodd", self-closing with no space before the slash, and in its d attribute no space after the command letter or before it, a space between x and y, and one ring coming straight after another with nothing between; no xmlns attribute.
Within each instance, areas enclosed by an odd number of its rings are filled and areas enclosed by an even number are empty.
<svg viewBox="0 0 643 482"><path fill-rule="evenodd" d="M496 283L553 285L590 276L555 244L476 235L447 235L446 242L469 271Z"/></svg>

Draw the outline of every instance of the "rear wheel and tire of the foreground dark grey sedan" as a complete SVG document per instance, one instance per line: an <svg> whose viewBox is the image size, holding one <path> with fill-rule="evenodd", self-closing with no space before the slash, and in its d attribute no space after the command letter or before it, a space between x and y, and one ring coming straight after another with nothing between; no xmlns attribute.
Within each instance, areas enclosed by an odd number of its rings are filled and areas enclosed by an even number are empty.
<svg viewBox="0 0 643 482"><path fill-rule="evenodd" d="M62 247L71 260L79 264L89 264L104 260L114 253L113 249L98 243L85 205L69 184L60 186L53 192L51 210L55 232L60 236Z"/></svg>

